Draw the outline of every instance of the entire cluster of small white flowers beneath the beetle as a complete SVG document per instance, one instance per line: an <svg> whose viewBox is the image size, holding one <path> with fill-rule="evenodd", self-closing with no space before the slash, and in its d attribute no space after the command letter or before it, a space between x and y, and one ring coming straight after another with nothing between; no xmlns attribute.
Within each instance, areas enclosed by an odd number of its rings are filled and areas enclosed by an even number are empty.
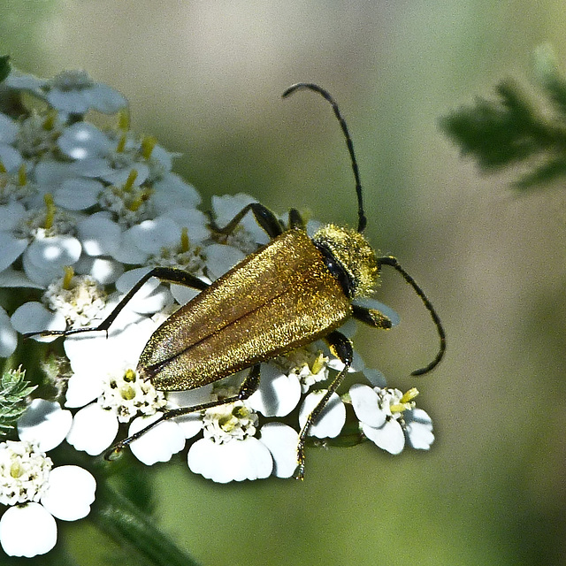
<svg viewBox="0 0 566 566"><path fill-rule="evenodd" d="M0 113L0 287L27 287L37 295L10 316L0 307L0 356L11 355L18 333L96 327L153 266L180 268L209 283L268 241L247 215L226 242L218 242L209 218L196 208L200 196L195 188L172 172L174 156L155 139L128 129L126 100L113 89L82 72L61 73L53 80L12 73L4 84L41 98L47 108L17 118ZM90 110L118 117L102 128L86 121ZM225 226L250 202L247 195L213 197L213 218ZM100 455L117 440L121 423L129 423L131 435L157 419L160 409L221 400L237 392L230 378L164 394L137 373L151 334L196 293L149 279L108 333L65 336L72 370L65 409L55 403L46 412L45 402L36 400L20 419L20 439L39 442L43 450L65 439L78 450ZM347 326L341 332L348 334ZM340 369L342 364L322 342L263 363L260 387L247 401L163 421L134 440L132 452L146 464L165 462L187 439L200 435L187 455L195 473L221 483L270 475L289 478L297 464L298 431L324 394L319 384ZM343 398L333 394L311 436L337 437L351 403L363 434L379 447L397 454L405 439L412 447L430 447L432 422L415 408L413 390L403 395L386 389L379 371L365 368L357 355L351 371L363 372L373 388L353 386ZM297 407L299 417L292 426L276 420ZM36 509L37 501L58 516L44 501L57 468L48 470L49 459L34 452L36 446L0 445L0 501L17 505L9 509L13 517ZM29 455L38 482L35 488L18 488L27 493L21 501L14 499L13 483L24 462L19 454ZM32 464L32 454L43 463ZM87 499L91 492L89 486ZM70 516L78 518L76 513ZM7 553L18 554L21 549L5 542L4 517L0 540ZM10 524L15 521L11 518Z"/></svg>

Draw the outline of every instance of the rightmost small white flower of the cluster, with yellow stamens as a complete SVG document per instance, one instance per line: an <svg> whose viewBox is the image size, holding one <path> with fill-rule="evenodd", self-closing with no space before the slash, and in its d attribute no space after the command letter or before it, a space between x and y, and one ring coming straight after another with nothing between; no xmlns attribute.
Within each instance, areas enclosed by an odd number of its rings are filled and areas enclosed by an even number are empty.
<svg viewBox="0 0 566 566"><path fill-rule="evenodd" d="M391 454L400 454L405 438L412 447L428 449L434 435L432 420L413 401L417 389L405 394L399 389L369 387L355 384L349 394L363 434Z"/></svg>

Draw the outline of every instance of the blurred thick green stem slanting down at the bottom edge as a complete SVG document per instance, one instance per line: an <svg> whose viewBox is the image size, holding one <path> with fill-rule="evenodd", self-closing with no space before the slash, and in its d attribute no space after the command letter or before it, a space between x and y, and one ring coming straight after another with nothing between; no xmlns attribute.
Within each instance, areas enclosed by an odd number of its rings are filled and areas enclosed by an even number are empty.
<svg viewBox="0 0 566 566"><path fill-rule="evenodd" d="M155 521L109 486L98 486L89 519L112 539L133 546L149 562L163 566L199 566L171 539L159 532Z"/></svg>

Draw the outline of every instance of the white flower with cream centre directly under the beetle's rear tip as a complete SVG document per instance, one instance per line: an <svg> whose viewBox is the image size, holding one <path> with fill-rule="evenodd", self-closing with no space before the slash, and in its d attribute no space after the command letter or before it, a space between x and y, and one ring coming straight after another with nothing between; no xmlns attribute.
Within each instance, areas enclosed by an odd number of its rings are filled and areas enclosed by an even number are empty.
<svg viewBox="0 0 566 566"><path fill-rule="evenodd" d="M144 381L135 370L156 323L139 317L135 321L132 316L120 323L120 317L111 326L108 339L104 333L65 339L65 351L73 369L65 405L82 407L73 417L67 441L89 455L102 454L111 446L119 423L142 417L132 421L131 433L137 432L149 424L143 417L157 418L166 403L163 392ZM134 455L148 465L168 460L185 443L178 426L158 424L132 444Z"/></svg>

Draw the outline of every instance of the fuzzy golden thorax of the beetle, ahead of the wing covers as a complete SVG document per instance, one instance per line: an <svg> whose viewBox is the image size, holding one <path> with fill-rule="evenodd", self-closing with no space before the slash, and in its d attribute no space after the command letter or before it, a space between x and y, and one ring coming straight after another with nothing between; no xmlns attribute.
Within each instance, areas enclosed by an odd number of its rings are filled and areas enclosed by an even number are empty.
<svg viewBox="0 0 566 566"><path fill-rule="evenodd" d="M375 252L361 233L329 224L317 230L312 241L330 252L347 273L350 297L371 294L378 284L379 267Z"/></svg>

